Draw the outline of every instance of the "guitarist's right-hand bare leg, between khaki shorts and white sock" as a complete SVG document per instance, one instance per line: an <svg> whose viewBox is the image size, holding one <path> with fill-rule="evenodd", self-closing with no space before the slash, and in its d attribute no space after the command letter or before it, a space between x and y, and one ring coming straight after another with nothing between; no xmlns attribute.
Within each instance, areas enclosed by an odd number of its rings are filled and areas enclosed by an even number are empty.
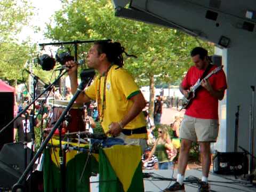
<svg viewBox="0 0 256 192"><path fill-rule="evenodd" d="M208 177L211 165L210 142L200 142L203 176Z"/></svg>

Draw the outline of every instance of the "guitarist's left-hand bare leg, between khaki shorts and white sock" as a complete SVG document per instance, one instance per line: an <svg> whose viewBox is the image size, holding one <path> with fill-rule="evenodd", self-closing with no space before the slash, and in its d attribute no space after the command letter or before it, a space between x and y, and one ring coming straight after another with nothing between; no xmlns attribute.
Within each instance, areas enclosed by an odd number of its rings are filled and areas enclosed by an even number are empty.
<svg viewBox="0 0 256 192"><path fill-rule="evenodd" d="M189 141L187 139L181 140L180 154L179 154L179 160L178 160L178 169L181 175L185 174L186 167L188 164L188 154L189 154L191 145L192 145L192 141Z"/></svg>

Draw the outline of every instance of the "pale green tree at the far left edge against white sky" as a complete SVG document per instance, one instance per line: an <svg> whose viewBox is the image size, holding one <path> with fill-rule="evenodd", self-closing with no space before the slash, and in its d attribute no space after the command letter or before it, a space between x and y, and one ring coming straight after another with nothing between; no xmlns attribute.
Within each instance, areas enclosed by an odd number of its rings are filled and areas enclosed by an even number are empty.
<svg viewBox="0 0 256 192"><path fill-rule="evenodd" d="M26 0L0 2L0 78L14 82L21 79L21 69L35 46L19 43L18 34L28 25L33 8Z"/></svg>

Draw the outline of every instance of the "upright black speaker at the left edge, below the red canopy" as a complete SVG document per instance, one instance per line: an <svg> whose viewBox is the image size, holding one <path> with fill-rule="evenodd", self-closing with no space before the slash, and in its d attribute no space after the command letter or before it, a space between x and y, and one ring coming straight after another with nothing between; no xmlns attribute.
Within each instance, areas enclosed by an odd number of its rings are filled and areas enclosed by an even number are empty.
<svg viewBox="0 0 256 192"><path fill-rule="evenodd" d="M0 129L13 119L14 94L13 92L0 92ZM0 150L4 143L13 141L13 124L0 135Z"/></svg>

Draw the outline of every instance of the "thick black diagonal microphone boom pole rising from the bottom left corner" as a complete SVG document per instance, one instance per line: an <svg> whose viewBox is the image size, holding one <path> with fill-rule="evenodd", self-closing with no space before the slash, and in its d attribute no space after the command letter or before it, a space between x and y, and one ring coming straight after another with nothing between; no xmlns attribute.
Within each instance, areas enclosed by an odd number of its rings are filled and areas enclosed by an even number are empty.
<svg viewBox="0 0 256 192"><path fill-rule="evenodd" d="M60 126L60 124L62 123L63 119L65 118L66 114L68 113L69 109L72 107L73 103L75 102L75 100L77 99L78 95L84 90L85 86L86 86L87 82L82 81L78 87L77 87L77 91L74 94L73 98L70 100L70 102L68 103L68 106L66 107L66 109L63 111L63 113L61 114L60 118L58 119L58 121L56 122L56 124L54 125L54 127L52 128L51 132L49 133L49 135L47 135L46 139L44 140L44 142L42 143L41 147L38 149L37 153L35 154L35 156L33 157L33 159L31 160L31 162L28 164L26 170L22 173L20 179L18 180L17 183L15 183L15 185L13 185L12 187L12 192L16 192L17 187L21 186L22 181L26 178L26 175L28 174L29 170L31 169L31 167L34 165L36 159L39 157L39 155L42 153L42 151L44 150L45 146L47 145L47 143L50 141L50 139L52 138L52 135L54 134L54 132L58 129L58 127Z"/></svg>

